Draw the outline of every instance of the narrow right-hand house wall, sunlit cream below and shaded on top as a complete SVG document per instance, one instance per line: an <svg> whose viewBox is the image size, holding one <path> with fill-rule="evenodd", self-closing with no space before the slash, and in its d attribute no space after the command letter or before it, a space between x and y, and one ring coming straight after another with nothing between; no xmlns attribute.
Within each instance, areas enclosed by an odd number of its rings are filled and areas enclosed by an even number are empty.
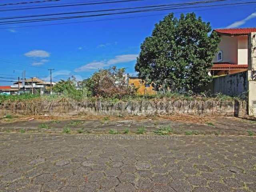
<svg viewBox="0 0 256 192"><path fill-rule="evenodd" d="M238 36L238 62L237 64L248 64L248 36Z"/></svg>

